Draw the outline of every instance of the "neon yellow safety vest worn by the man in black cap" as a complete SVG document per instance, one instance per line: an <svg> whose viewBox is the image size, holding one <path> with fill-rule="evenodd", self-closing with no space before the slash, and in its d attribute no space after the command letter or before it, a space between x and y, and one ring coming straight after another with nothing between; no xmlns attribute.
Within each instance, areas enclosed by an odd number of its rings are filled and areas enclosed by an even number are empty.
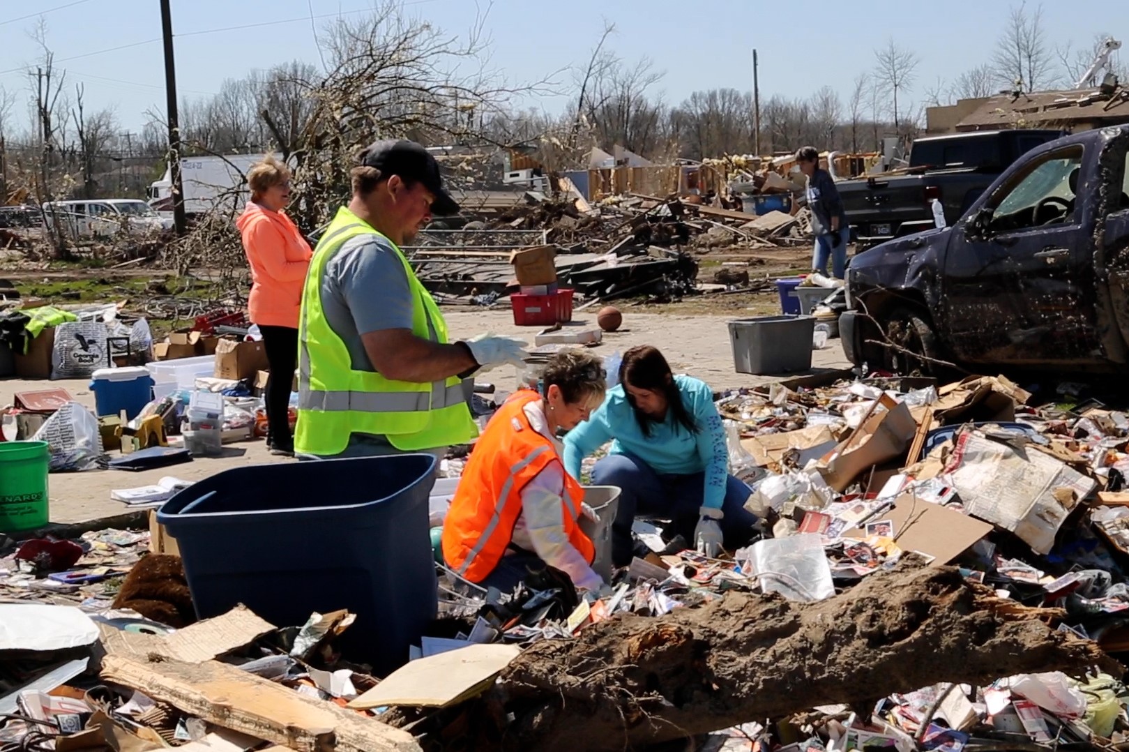
<svg viewBox="0 0 1129 752"><path fill-rule="evenodd" d="M462 379L452 376L430 384L413 384L355 370L349 348L330 327L322 308L322 276L341 246L358 235L384 237L349 209L339 209L314 250L306 274L298 338L295 452L339 454L353 432L386 436L392 446L404 452L470 441L478 436L478 427L466 404ZM413 292L412 333L446 344L447 323L439 307L415 279L396 244L388 242L404 264Z"/></svg>

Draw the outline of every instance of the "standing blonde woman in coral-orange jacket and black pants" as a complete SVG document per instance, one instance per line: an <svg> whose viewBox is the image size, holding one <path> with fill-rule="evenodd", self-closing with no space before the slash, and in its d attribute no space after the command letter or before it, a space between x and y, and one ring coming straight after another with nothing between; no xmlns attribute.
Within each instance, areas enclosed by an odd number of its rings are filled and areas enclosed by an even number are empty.
<svg viewBox="0 0 1129 752"><path fill-rule="evenodd" d="M298 312L313 252L286 216L290 170L268 156L247 173L251 201L236 221L251 264L248 316L263 333L270 362L266 381L266 445L271 454L292 455L288 419L290 384L298 359Z"/></svg>

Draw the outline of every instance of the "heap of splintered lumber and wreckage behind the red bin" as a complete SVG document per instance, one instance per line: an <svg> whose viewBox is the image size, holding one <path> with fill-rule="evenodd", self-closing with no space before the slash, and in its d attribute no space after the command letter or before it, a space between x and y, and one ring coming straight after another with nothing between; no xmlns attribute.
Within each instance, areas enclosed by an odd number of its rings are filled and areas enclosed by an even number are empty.
<svg viewBox="0 0 1129 752"><path fill-rule="evenodd" d="M515 289L509 252L545 244L557 250L561 287L574 289L581 304L632 296L665 301L703 291L695 260L701 254L806 246L806 211L758 217L636 194L611 196L594 207L583 199L542 200L471 222L439 236L440 242L419 241L408 252L420 281L445 303L492 304ZM527 237L537 230L540 238ZM737 289L761 287L746 281ZM490 297L482 299L485 295Z"/></svg>

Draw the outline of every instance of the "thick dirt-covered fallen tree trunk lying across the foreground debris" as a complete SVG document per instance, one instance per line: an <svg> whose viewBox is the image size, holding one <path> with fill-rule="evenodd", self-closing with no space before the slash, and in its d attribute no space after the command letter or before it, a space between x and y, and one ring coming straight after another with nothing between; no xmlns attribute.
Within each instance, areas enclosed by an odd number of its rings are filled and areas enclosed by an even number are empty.
<svg viewBox="0 0 1129 752"><path fill-rule="evenodd" d="M1001 605L955 568L912 561L819 603L729 593L537 642L491 699L513 714L506 749L624 750L939 682L1121 671L1042 611Z"/></svg>

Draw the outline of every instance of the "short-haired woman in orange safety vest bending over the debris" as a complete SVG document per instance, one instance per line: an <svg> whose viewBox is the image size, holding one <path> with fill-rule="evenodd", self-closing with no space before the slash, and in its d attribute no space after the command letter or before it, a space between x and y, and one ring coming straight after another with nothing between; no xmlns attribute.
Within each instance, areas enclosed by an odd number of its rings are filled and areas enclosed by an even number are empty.
<svg viewBox="0 0 1129 752"><path fill-rule="evenodd" d="M549 565L583 589L598 589L592 541L580 531L580 483L561 462L557 439L587 420L607 388L599 358L554 356L541 392L520 390L493 414L474 445L443 525L443 557L464 579L510 592Z"/></svg>

